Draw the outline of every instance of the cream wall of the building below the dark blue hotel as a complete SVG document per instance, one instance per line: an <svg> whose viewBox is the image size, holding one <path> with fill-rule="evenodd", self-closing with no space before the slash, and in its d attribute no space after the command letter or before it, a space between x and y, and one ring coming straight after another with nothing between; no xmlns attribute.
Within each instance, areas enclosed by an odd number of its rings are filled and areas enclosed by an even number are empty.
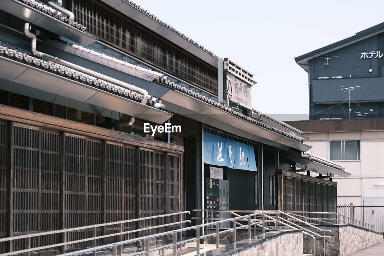
<svg viewBox="0 0 384 256"><path fill-rule="evenodd" d="M362 197L384 197L384 131L306 133L310 153L329 159L330 140L360 140L359 161L335 161L351 173L348 178L334 177L338 183L338 203L362 203ZM317 176L314 174L313 176Z"/></svg>

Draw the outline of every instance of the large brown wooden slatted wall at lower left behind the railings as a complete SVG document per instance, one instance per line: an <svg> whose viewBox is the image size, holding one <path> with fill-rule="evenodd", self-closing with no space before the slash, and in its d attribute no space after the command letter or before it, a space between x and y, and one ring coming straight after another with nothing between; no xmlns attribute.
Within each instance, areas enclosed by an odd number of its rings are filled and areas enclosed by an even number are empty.
<svg viewBox="0 0 384 256"><path fill-rule="evenodd" d="M1 110L8 109L0 105L0 116L4 118ZM25 111L25 116L27 113ZM164 149L168 144L144 140L147 144L142 143L138 151L131 145L134 140L80 135L75 129L68 133L53 125L57 118L34 115L37 121L34 125L22 123L19 117L14 117L18 122L12 118L0 118L1 237L97 224L104 219L110 222L183 210L182 147L169 145L172 148L169 150L172 153L169 153ZM51 121L51 124L39 123L41 118ZM64 127L76 126L71 121L63 122ZM81 127L83 124L79 124ZM78 130L78 133L82 131ZM149 149L150 145L156 144L159 144L159 151ZM179 153L174 151L176 148L180 149ZM136 169L138 153L139 177ZM147 222L146 226L149 224L160 223ZM125 224L123 228L125 231L135 229L136 223ZM118 226L107 230L99 228L97 234L108 234L118 229ZM135 235L125 235L124 239ZM67 234L67 241L89 236L90 231L71 232ZM105 239L98 244L116 239ZM60 241L57 234L31 239L32 246ZM26 241L3 243L0 244L0 253L24 249L25 246ZM87 246L91 244L68 245L67 249ZM59 248L49 250L55 249Z"/></svg>

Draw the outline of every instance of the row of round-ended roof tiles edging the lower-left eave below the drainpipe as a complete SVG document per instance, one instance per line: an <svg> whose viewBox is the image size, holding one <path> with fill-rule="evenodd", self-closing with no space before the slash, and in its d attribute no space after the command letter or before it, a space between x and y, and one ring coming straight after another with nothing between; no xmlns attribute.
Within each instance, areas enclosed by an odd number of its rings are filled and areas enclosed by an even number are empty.
<svg viewBox="0 0 384 256"><path fill-rule="evenodd" d="M118 85L108 83L106 81L103 81L93 76L73 70L66 66L48 62L42 59L38 59L27 53L19 52L18 50L16 50L16 47L10 48L9 46L10 46L9 44L5 46L4 43L0 43L0 54L2 56L5 56L7 58L14 58L20 62L27 63L31 66L36 66L38 68L48 70L51 73L56 73L58 75L65 76L67 78L77 80L86 85L91 85L96 88L101 88L104 91L109 91L111 93L120 95L130 100L140 101L142 99L142 95L134 91L128 90L126 88L122 88L121 86L118 86Z"/></svg>

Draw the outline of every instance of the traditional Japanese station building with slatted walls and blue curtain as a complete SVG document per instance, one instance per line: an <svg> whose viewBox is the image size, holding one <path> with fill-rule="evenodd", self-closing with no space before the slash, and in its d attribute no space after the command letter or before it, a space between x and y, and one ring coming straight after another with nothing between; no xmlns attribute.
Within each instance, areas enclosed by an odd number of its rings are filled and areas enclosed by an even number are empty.
<svg viewBox="0 0 384 256"><path fill-rule="evenodd" d="M250 71L131 1L5 0L0 66L0 237L184 209L335 211L332 177L349 175L252 108Z"/></svg>

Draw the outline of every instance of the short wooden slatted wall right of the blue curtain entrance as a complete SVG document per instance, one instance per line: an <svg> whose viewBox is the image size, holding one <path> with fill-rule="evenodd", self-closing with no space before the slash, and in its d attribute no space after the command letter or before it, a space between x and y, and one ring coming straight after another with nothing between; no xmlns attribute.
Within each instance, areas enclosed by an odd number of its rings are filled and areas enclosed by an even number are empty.
<svg viewBox="0 0 384 256"><path fill-rule="evenodd" d="M337 195L336 182L278 170L278 209L281 211L335 212ZM325 218L312 214L313 218Z"/></svg>

